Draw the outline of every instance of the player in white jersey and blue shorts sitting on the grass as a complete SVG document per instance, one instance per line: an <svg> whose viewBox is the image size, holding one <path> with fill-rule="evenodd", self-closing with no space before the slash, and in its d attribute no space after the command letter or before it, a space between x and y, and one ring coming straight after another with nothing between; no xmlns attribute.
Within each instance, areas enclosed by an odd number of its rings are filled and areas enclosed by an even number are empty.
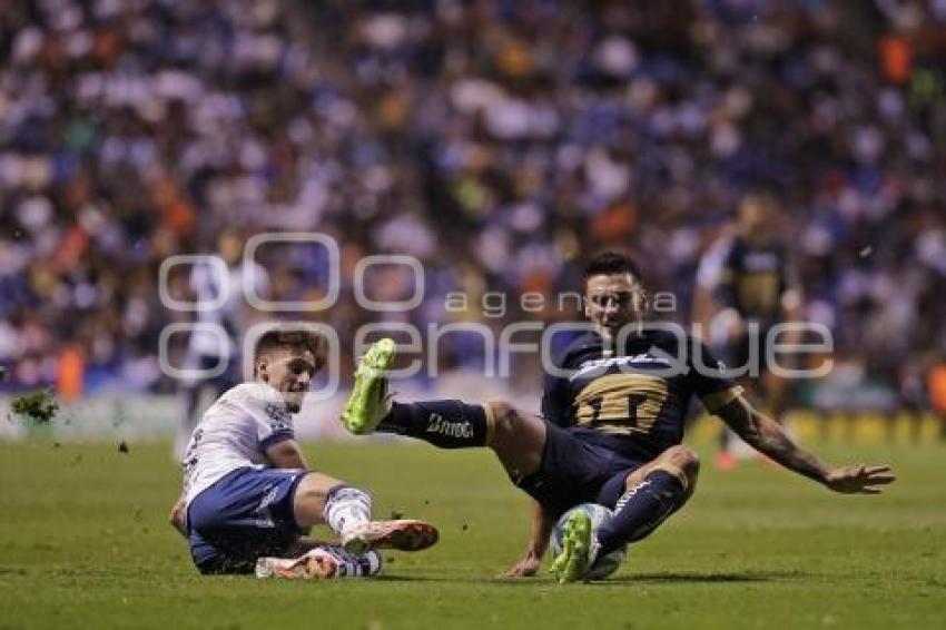
<svg viewBox="0 0 946 630"><path fill-rule="evenodd" d="M436 542L436 529L421 521L372 521L365 491L308 470L293 415L324 365L324 347L314 333L263 334L255 382L226 392L195 427L171 523L188 538L201 573L369 575L381 568L373 550ZM337 533L341 545L304 535L316 523Z"/></svg>

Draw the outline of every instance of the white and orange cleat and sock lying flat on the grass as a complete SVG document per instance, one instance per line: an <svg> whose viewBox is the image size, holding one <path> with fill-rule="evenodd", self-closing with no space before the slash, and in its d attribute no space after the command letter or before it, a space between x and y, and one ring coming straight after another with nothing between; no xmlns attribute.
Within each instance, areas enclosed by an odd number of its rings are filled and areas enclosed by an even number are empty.
<svg viewBox="0 0 946 630"><path fill-rule="evenodd" d="M367 578L376 575L381 565L381 554L376 551L355 555L341 547L323 545L298 558L259 558L256 561L256 577L286 580Z"/></svg>

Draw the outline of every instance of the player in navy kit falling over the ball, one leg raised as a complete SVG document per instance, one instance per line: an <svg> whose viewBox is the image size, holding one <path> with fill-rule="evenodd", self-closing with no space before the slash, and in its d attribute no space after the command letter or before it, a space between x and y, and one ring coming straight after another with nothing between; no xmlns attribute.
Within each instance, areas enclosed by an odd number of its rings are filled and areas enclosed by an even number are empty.
<svg viewBox="0 0 946 630"><path fill-rule="evenodd" d="M887 466L822 464L752 408L702 344L646 326L647 293L628 256L602 254L584 279L584 312L594 331L546 370L544 417L505 403L393 402L385 376L395 351L390 339L362 358L343 415L357 434L382 431L445 449L492 449L534 500L529 545L510 574L538 571L558 516L580 503L600 503L614 514L592 531L584 511L570 513L553 563L560 581L582 579L598 555L642 539L680 509L699 472L697 454L680 444L694 395L757 450L834 491L877 493L894 481Z"/></svg>

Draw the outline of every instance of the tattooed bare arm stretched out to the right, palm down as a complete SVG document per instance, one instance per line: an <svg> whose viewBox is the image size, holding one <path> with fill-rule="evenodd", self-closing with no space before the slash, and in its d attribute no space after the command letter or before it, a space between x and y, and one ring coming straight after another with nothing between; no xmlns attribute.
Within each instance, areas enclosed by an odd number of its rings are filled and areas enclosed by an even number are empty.
<svg viewBox="0 0 946 630"><path fill-rule="evenodd" d="M845 494L879 494L880 485L896 478L889 466L831 467L799 447L772 419L759 413L742 396L717 412L747 444L782 466Z"/></svg>

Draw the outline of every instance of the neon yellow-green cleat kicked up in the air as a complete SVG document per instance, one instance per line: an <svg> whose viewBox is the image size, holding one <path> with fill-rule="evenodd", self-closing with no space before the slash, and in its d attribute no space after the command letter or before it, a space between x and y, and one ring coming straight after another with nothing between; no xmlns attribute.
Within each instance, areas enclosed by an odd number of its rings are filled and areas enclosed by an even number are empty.
<svg viewBox="0 0 946 630"><path fill-rule="evenodd" d="M387 371L394 363L396 346L391 339L372 344L355 370L355 387L345 404L342 423L357 435L373 432L391 411Z"/></svg>

